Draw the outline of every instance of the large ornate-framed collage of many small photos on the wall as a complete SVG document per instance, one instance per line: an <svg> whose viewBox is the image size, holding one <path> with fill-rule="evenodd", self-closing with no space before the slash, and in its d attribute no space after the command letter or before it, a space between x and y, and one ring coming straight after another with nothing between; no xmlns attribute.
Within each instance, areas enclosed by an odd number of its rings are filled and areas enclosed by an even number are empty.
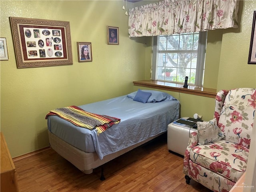
<svg viewBox="0 0 256 192"><path fill-rule="evenodd" d="M73 64L69 22L10 17L10 24L17 68Z"/></svg>

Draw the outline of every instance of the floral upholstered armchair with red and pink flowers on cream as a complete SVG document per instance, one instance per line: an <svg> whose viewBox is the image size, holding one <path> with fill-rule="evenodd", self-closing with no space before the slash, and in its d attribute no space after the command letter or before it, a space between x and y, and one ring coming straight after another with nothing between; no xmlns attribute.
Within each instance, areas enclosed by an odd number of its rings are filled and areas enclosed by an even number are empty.
<svg viewBox="0 0 256 192"><path fill-rule="evenodd" d="M246 171L256 108L256 90L220 90L215 99L214 120L224 138L198 144L198 132L190 134L183 172L215 192L229 191Z"/></svg>

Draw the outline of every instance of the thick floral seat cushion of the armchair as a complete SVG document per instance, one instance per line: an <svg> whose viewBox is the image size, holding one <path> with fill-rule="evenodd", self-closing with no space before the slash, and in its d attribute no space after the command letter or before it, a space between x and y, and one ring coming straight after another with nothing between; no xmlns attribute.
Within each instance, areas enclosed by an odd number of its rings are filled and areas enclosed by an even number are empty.
<svg viewBox="0 0 256 192"><path fill-rule="evenodd" d="M193 147L190 160L237 182L246 170L248 154L249 150L244 146L219 140Z"/></svg>

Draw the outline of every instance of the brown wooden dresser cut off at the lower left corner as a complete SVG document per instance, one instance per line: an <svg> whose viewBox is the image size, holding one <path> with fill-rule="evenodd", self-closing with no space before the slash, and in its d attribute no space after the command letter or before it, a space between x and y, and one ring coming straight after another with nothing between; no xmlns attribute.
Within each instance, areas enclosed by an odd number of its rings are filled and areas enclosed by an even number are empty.
<svg viewBox="0 0 256 192"><path fill-rule="evenodd" d="M0 166L0 191L1 192L18 192L17 173L10 156L4 135L1 132L1 166Z"/></svg>

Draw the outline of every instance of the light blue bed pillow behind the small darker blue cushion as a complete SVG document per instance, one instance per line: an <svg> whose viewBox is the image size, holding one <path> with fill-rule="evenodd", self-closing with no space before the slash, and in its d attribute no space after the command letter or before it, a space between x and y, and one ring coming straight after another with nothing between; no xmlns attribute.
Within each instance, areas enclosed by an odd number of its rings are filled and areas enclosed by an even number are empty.
<svg viewBox="0 0 256 192"><path fill-rule="evenodd" d="M142 91L152 93L150 98L148 98L148 101L147 101L148 103L149 102L160 102L160 101L164 101L164 100L169 100L169 101L170 100L177 100L176 98L174 98L173 96L171 96L170 94L168 94L166 92L154 91L154 90L142 90ZM129 98L134 99L136 94L137 94L137 91L132 92L132 93L128 94L127 96Z"/></svg>

